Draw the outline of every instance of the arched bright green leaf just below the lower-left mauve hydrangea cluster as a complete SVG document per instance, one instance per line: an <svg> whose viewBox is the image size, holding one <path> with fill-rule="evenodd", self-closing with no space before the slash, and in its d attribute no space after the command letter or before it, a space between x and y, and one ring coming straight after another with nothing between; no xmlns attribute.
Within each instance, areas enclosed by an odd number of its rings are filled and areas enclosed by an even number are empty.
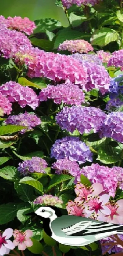
<svg viewBox="0 0 123 256"><path fill-rule="evenodd" d="M39 181L36 181L32 177L24 177L23 179L20 180L20 183L30 185L30 186L36 188L41 193L43 191L42 183L40 183Z"/></svg>

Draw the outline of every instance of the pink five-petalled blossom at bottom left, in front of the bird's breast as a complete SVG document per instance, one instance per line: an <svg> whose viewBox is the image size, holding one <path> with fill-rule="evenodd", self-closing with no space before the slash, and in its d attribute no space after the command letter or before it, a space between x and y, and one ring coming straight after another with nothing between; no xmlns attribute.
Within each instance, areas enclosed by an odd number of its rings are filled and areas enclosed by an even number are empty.
<svg viewBox="0 0 123 256"><path fill-rule="evenodd" d="M30 229L27 229L25 232L21 232L19 230L14 230L14 245L18 246L18 250L24 251L27 247L32 246L32 241L30 237L33 235Z"/></svg>

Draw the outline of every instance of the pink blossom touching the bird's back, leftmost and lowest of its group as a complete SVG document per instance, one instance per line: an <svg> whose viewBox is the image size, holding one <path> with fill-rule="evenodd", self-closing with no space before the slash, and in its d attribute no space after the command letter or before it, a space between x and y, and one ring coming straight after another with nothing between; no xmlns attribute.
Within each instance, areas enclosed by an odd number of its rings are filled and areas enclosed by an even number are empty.
<svg viewBox="0 0 123 256"><path fill-rule="evenodd" d="M85 217L85 209L82 203L73 202L71 200L68 201L66 209L68 211L68 215L75 215Z"/></svg>

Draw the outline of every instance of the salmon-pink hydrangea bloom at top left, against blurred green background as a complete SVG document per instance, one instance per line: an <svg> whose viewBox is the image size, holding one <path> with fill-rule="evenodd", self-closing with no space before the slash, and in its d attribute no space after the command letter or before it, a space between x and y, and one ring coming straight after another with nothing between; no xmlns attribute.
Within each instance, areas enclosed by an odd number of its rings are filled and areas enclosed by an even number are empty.
<svg viewBox="0 0 123 256"><path fill-rule="evenodd" d="M34 21L29 20L27 17L22 19L20 16L8 17L8 28L13 28L19 31L24 31L27 35L31 35L36 28Z"/></svg>

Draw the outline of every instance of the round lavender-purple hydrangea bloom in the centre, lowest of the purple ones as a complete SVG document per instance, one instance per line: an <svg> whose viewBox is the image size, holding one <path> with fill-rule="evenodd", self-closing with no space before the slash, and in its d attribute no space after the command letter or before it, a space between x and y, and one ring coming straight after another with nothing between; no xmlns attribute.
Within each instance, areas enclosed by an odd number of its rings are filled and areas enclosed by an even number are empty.
<svg viewBox="0 0 123 256"><path fill-rule="evenodd" d="M67 157L71 161L79 164L86 161L92 162L92 152L86 144L78 137L63 137L55 141L51 148L51 157L63 159Z"/></svg>

